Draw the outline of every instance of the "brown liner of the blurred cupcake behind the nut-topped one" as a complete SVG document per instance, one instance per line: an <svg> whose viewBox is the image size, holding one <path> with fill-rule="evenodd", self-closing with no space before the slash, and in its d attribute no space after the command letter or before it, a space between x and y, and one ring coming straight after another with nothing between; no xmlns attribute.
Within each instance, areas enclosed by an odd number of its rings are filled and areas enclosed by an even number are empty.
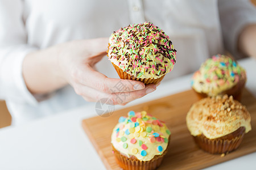
<svg viewBox="0 0 256 170"><path fill-rule="evenodd" d="M223 91L223 92L221 92L221 94L218 94L218 95L225 95L225 94L227 94L228 96L233 96L233 98L235 100L241 101L241 99L242 99L242 91L243 91L243 88L245 87L245 83L246 83L245 79L244 80L240 80L240 82L238 82L236 84L236 86L233 86L229 90ZM195 89L193 89L193 91L196 92L196 95L199 98L199 100L203 99L205 97L208 97L208 95L205 94L205 93L197 92Z"/></svg>

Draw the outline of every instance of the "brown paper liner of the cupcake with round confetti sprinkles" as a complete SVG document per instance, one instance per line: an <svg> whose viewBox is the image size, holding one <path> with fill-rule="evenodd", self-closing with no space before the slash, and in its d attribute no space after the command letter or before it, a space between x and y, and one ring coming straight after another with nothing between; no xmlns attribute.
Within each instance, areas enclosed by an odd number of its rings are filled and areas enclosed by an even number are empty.
<svg viewBox="0 0 256 170"><path fill-rule="evenodd" d="M168 141L170 142L171 135L169 136ZM160 166L164 155L166 155L168 151L169 143L167 145L166 150L162 155L155 155L153 159L148 161L140 161L135 156L131 156L128 158L126 155L121 154L118 150L113 148L113 152L115 155L115 161L118 163L119 167L125 170L154 170Z"/></svg>

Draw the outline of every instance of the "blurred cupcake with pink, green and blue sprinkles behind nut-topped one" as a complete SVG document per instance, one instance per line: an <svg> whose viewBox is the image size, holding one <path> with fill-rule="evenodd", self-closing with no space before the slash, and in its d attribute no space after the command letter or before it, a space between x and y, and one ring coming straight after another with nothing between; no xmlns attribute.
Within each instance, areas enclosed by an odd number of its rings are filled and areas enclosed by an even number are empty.
<svg viewBox="0 0 256 170"><path fill-rule="evenodd" d="M227 94L241 100L246 72L234 59L216 55L207 59L195 72L191 86L200 99Z"/></svg>

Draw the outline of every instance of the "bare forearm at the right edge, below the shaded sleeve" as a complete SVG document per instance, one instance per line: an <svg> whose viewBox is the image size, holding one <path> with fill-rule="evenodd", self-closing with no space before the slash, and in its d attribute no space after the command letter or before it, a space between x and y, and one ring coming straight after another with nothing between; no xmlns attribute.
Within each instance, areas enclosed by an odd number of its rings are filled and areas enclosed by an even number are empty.
<svg viewBox="0 0 256 170"><path fill-rule="evenodd" d="M256 24L243 29L238 39L238 49L246 56L256 58Z"/></svg>

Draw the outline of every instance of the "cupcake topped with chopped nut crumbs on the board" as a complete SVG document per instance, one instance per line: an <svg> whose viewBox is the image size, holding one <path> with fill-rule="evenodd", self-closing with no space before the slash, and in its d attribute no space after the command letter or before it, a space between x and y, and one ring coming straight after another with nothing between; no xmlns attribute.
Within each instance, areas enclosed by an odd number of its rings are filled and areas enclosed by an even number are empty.
<svg viewBox="0 0 256 170"><path fill-rule="evenodd" d="M240 146L251 130L251 117L232 96L207 97L192 105L187 127L196 144L211 154L225 154Z"/></svg>

